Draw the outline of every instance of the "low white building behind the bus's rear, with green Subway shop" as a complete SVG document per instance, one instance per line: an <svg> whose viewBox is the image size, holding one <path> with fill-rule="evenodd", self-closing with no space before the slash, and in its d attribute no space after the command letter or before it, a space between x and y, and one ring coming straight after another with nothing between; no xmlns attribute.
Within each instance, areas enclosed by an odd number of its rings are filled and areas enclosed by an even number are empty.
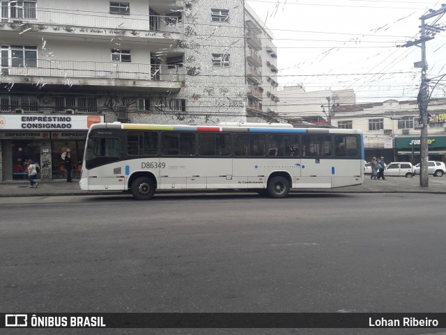
<svg viewBox="0 0 446 335"><path fill-rule="evenodd" d="M446 162L446 100L431 100L428 113L429 160ZM420 162L420 111L415 100L334 106L332 114L332 126L362 130L367 162L381 156L386 162Z"/></svg>

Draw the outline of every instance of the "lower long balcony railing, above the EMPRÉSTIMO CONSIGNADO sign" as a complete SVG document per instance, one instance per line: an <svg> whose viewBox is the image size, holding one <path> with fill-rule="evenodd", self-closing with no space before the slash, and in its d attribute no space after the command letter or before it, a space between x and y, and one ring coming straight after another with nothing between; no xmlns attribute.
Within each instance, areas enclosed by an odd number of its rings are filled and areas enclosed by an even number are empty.
<svg viewBox="0 0 446 335"><path fill-rule="evenodd" d="M6 61L6 59L3 59ZM9 60L11 61L11 60ZM95 79L184 81L183 67L139 63L38 60L36 68L2 66L1 75Z"/></svg>

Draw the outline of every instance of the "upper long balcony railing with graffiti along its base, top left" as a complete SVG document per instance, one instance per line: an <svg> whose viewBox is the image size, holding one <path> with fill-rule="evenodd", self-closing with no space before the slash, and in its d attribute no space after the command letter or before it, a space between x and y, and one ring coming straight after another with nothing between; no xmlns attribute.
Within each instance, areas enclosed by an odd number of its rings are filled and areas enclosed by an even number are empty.
<svg viewBox="0 0 446 335"><path fill-rule="evenodd" d="M2 7L7 8L7 7ZM132 30L134 36L138 31L160 31L169 33L183 33L183 23L177 17L158 15L114 15L110 13L84 12L82 10L63 10L52 8L33 8L32 15L22 15L22 18L2 17L2 22L29 22L39 25L43 30L50 26L60 26L60 30L53 27L52 32L67 33L116 33ZM91 31L93 29L93 31ZM109 31L104 31L105 29ZM49 31L49 30L48 30Z"/></svg>

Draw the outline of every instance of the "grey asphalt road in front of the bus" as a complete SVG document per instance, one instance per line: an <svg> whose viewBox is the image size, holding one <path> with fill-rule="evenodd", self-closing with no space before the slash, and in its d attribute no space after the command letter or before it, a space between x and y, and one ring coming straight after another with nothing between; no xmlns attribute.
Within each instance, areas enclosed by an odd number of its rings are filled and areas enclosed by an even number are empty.
<svg viewBox="0 0 446 335"><path fill-rule="evenodd" d="M69 203L53 199L24 205L23 198L15 198L16 203L0 205L1 311L446 309L443 195L293 194L282 200L252 194L163 195L149 202L128 196L80 196ZM101 334L426 330L107 329ZM99 332L78 329L72 334Z"/></svg>

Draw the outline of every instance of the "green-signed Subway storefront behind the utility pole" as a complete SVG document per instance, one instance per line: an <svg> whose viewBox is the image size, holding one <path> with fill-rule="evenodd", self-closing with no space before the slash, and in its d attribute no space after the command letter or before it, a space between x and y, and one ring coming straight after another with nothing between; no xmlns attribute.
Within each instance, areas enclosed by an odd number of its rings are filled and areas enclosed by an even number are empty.
<svg viewBox="0 0 446 335"><path fill-rule="evenodd" d="M395 150L397 150L398 161L420 163L420 143L420 137L397 137ZM446 162L446 135L429 135L427 148L429 160Z"/></svg>

